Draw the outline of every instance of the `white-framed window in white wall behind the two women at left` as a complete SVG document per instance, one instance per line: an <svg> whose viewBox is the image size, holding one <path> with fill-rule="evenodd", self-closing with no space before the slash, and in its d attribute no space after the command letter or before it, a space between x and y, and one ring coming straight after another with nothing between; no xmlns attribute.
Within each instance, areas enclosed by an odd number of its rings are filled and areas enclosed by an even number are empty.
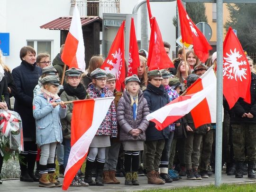
<svg viewBox="0 0 256 192"><path fill-rule="evenodd" d="M37 55L40 53L48 53L51 56L53 54L53 41L27 40L27 45L33 47L37 51Z"/></svg>

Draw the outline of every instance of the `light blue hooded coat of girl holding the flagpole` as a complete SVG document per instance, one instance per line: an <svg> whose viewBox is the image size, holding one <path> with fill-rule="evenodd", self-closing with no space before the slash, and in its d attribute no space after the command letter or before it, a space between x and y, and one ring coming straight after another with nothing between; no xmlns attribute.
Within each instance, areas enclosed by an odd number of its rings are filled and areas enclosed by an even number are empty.
<svg viewBox="0 0 256 192"><path fill-rule="evenodd" d="M55 102L61 101L60 99ZM37 94L33 100L33 115L36 119L37 145L59 142L63 140L60 119L66 116L66 108L60 105L53 108L51 102L43 94Z"/></svg>

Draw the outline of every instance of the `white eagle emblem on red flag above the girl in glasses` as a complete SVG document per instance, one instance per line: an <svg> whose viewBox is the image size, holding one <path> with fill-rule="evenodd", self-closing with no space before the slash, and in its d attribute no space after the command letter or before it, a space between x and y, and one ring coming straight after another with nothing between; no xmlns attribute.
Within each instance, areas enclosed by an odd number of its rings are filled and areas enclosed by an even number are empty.
<svg viewBox="0 0 256 192"><path fill-rule="evenodd" d="M122 52L120 48L115 53L112 53L111 56L112 59L110 60L108 58L107 60L105 71L106 73L111 73L112 75L115 75L116 78L119 79L119 76L121 74L121 71L119 69L121 69L123 66Z"/></svg>

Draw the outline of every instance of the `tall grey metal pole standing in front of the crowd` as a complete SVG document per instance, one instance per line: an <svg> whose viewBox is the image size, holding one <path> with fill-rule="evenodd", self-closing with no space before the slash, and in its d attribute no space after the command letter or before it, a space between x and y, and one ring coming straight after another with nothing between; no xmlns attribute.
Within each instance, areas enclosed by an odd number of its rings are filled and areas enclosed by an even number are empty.
<svg viewBox="0 0 256 192"><path fill-rule="evenodd" d="M215 152L215 186L221 184L223 117L223 0L217 0L217 123Z"/></svg>

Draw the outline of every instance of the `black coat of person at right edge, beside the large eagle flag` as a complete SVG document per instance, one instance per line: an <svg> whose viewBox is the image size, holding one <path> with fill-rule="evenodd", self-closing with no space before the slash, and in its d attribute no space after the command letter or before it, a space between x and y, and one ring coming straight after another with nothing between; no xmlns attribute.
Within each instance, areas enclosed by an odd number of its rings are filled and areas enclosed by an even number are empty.
<svg viewBox="0 0 256 192"><path fill-rule="evenodd" d="M246 90L241 90L246 91ZM230 123L232 124L256 124L256 75L251 73L251 104L239 98L234 107L230 110ZM251 113L253 118L242 117L244 113Z"/></svg>

